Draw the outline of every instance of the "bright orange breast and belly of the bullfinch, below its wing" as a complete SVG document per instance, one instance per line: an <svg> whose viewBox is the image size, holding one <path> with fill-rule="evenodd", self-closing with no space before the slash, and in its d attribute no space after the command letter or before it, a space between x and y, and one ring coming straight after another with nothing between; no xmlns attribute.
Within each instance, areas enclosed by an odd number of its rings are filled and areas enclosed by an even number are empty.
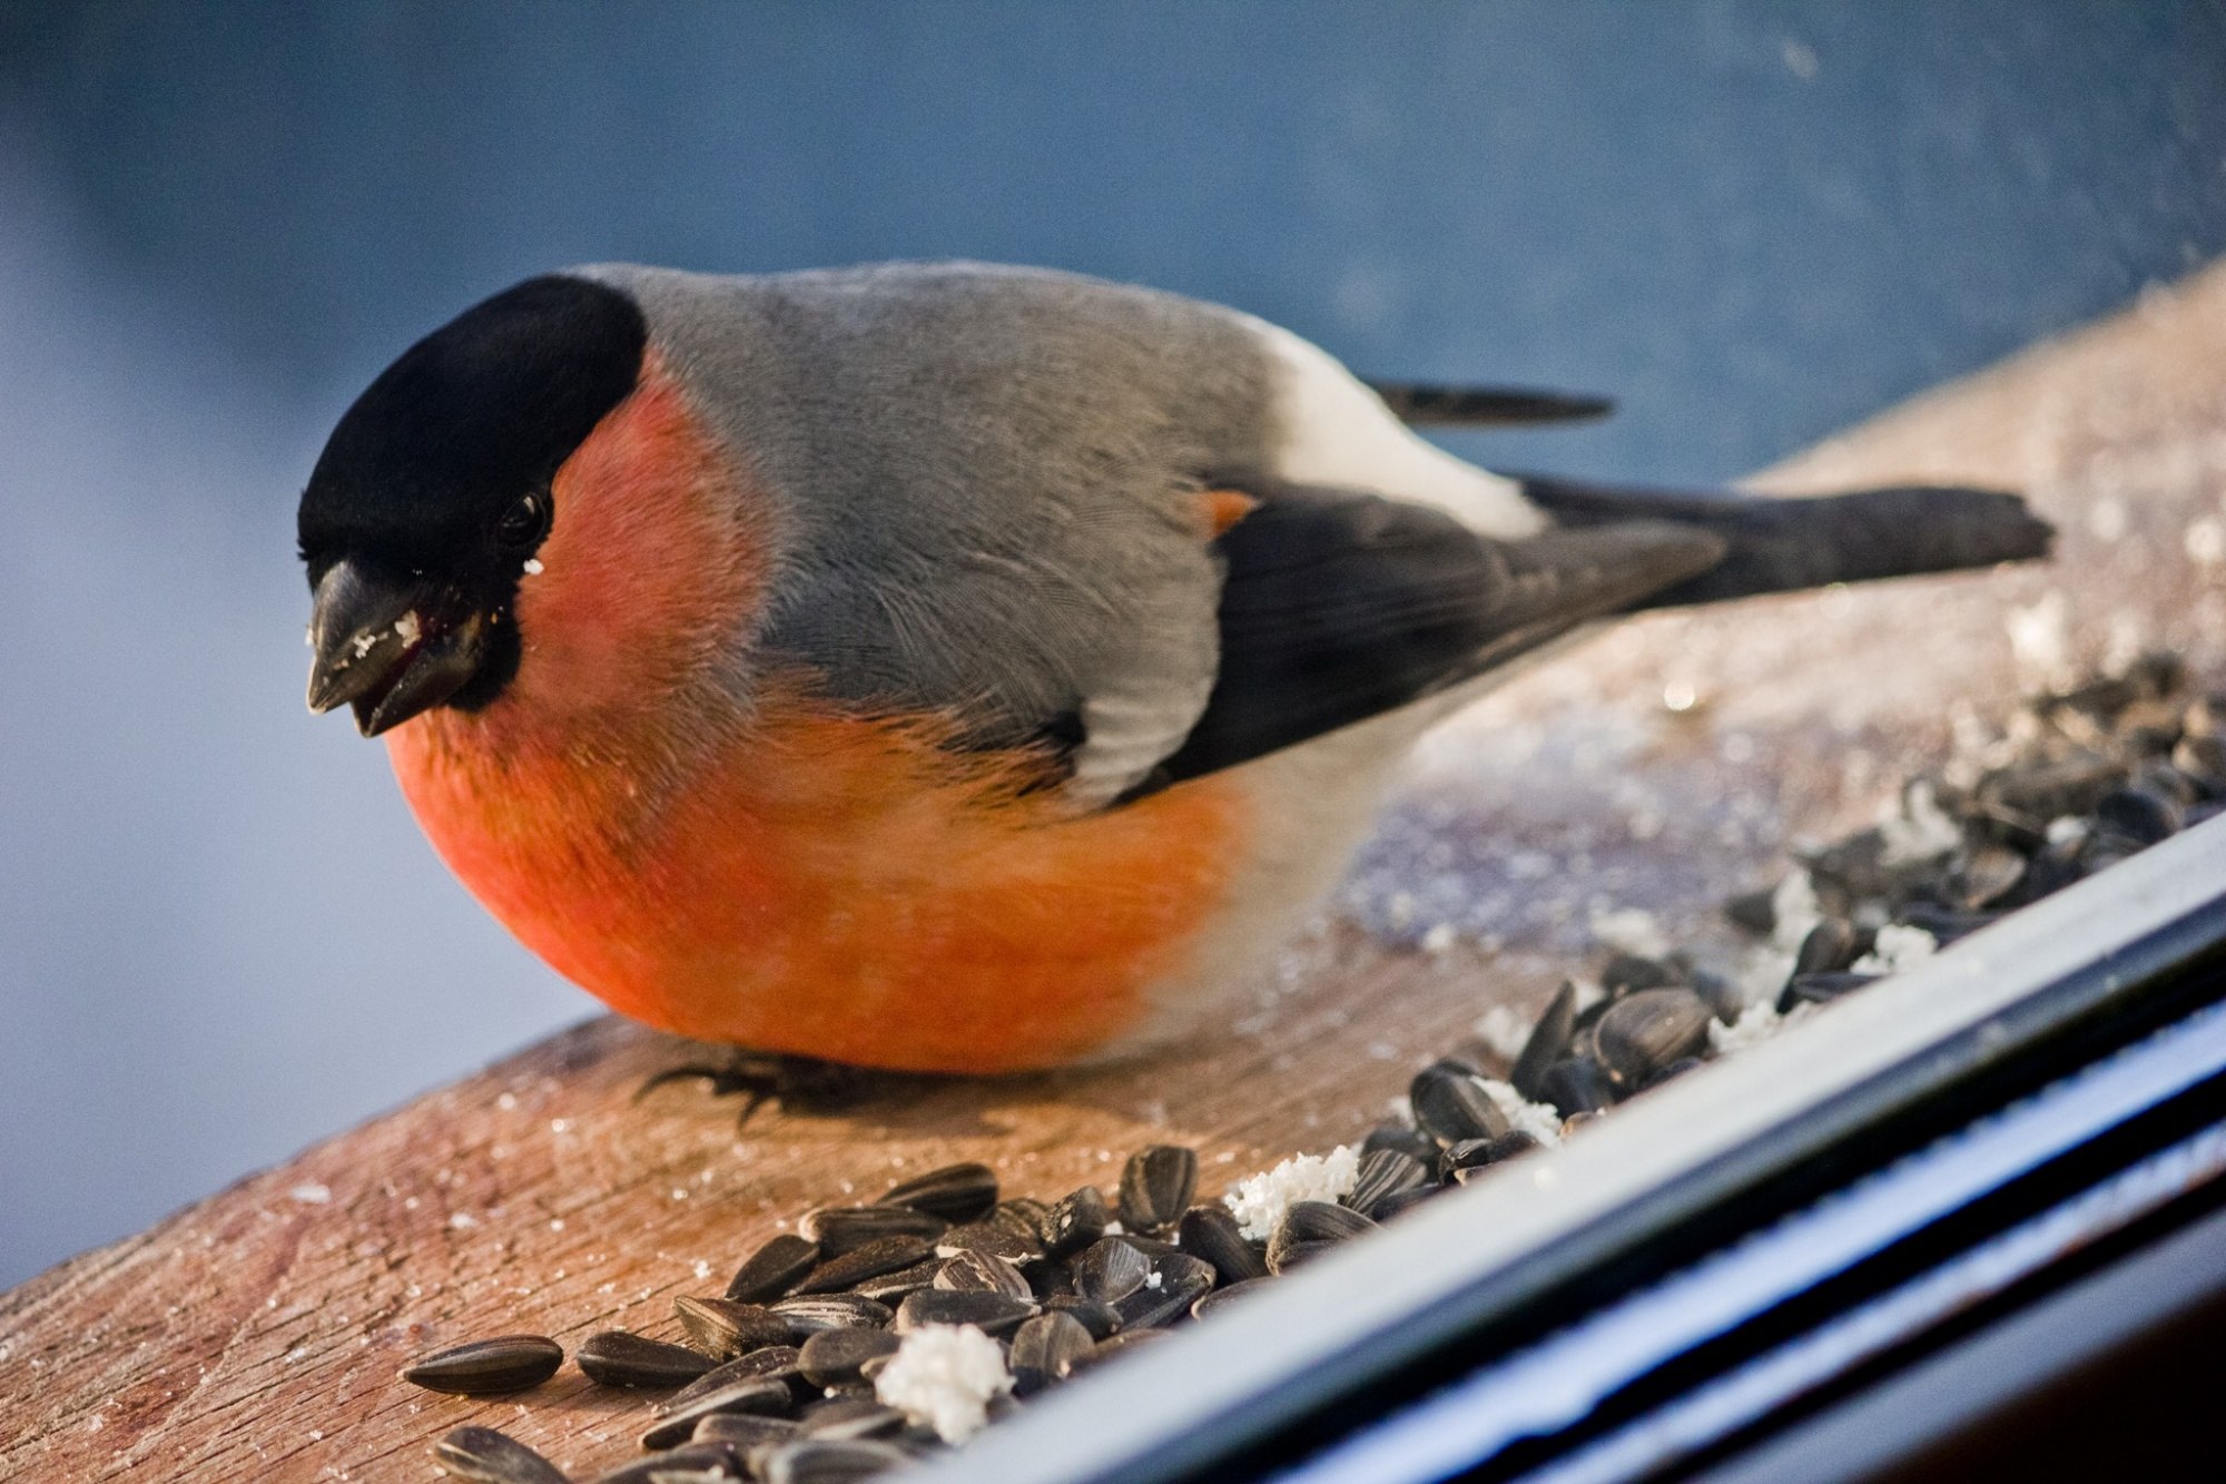
<svg viewBox="0 0 2226 1484"><path fill-rule="evenodd" d="M1229 778L1071 818L1015 787L1026 760L926 724L779 706L674 769L612 738L541 746L501 711L390 733L443 860L612 1009L768 1052L1086 1056L1186 967L1249 833Z"/></svg>

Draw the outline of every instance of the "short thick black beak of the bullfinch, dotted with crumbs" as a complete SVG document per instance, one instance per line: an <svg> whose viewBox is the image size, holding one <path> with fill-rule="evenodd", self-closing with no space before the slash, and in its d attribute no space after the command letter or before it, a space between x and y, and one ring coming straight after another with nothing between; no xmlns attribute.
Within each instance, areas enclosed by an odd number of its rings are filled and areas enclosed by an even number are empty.
<svg viewBox="0 0 2226 1484"><path fill-rule="evenodd" d="M392 582L338 562L309 615L309 711L347 702L376 738L432 711L479 671L485 619L425 582Z"/></svg>

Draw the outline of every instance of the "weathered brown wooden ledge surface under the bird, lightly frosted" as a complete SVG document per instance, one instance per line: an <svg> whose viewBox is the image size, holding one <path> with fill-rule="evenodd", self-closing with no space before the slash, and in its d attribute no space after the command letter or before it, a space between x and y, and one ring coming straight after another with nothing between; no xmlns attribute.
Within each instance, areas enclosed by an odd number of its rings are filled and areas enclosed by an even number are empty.
<svg viewBox="0 0 2226 1484"><path fill-rule="evenodd" d="M1652 617L1523 675L1422 746L1340 902L1184 1056L893 1078L737 1127L692 1083L632 1101L697 1047L590 1021L85 1252L0 1297L0 1480L423 1480L465 1422L590 1477L634 1455L639 1397L568 1366L472 1402L396 1368L499 1332L672 1337L674 1295L719 1292L801 1210L957 1159L1057 1197L1180 1141L1215 1192L1353 1139L1487 1007L1531 1014L1594 967L1596 909L1730 945L1723 896L1865 822L2050 668L2175 644L2215 671L2222 370L2213 270L1774 470L1783 490L2023 488L2059 559Z"/></svg>

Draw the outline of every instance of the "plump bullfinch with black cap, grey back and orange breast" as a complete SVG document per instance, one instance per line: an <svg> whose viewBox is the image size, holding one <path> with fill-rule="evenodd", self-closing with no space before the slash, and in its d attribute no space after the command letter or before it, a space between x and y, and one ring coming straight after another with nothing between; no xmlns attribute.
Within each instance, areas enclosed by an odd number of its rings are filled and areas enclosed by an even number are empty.
<svg viewBox="0 0 2226 1484"><path fill-rule="evenodd" d="M897 1072L1137 1056L1240 1014L1518 660L2050 546L2001 490L1505 475L1411 426L1603 410L1055 270L548 272L334 426L309 709L626 1016Z"/></svg>

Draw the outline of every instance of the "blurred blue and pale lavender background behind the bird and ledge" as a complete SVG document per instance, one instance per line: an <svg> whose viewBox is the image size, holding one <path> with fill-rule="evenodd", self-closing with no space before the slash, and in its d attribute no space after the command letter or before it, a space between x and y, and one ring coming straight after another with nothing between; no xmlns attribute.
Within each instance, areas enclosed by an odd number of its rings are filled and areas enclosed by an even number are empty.
<svg viewBox="0 0 2226 1484"><path fill-rule="evenodd" d="M2219 4L0 2L0 1286L592 1003L301 704L292 512L588 258L1053 263L1725 479L2226 247Z"/></svg>

